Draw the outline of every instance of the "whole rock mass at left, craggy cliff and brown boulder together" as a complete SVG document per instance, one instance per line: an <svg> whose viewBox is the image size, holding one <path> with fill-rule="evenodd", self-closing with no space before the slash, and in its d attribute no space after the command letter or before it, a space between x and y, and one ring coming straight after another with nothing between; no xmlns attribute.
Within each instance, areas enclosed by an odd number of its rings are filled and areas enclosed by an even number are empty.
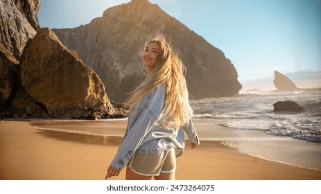
<svg viewBox="0 0 321 194"><path fill-rule="evenodd" d="M99 76L49 28L40 28L39 8L37 0L0 0L0 118L125 115Z"/></svg>

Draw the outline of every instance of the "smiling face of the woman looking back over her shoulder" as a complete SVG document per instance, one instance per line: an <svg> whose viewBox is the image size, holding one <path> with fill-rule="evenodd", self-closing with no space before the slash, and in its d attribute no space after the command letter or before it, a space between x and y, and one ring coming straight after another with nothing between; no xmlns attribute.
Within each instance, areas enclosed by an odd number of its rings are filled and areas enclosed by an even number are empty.
<svg viewBox="0 0 321 194"><path fill-rule="evenodd" d="M159 44L157 42L150 42L147 44L142 56L142 60L148 71L152 71L155 68L159 49Z"/></svg>

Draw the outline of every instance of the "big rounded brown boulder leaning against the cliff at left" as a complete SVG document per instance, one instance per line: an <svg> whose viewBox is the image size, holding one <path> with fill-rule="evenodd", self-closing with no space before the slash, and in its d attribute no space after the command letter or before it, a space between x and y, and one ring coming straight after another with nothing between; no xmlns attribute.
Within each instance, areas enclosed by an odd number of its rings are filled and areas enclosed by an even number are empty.
<svg viewBox="0 0 321 194"><path fill-rule="evenodd" d="M101 79L49 28L26 44L20 73L23 88L54 118L115 114Z"/></svg>

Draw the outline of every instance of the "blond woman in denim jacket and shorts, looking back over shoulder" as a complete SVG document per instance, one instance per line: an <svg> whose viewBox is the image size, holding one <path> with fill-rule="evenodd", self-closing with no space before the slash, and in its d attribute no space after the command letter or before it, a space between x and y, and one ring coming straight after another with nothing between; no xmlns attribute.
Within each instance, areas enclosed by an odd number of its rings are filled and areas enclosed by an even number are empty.
<svg viewBox="0 0 321 194"><path fill-rule="evenodd" d="M191 148L200 144L191 122L185 67L164 36L146 44L142 61L147 78L125 103L128 126L105 179L118 176L125 166L126 179L175 179L184 131Z"/></svg>

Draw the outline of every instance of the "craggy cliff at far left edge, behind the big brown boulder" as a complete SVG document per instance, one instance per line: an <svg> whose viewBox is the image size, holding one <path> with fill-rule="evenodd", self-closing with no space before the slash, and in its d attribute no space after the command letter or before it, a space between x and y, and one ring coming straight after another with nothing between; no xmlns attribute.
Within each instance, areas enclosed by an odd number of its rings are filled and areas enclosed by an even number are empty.
<svg viewBox="0 0 321 194"><path fill-rule="evenodd" d="M40 28L38 0L0 1L0 112L17 91L19 59L29 38Z"/></svg>

